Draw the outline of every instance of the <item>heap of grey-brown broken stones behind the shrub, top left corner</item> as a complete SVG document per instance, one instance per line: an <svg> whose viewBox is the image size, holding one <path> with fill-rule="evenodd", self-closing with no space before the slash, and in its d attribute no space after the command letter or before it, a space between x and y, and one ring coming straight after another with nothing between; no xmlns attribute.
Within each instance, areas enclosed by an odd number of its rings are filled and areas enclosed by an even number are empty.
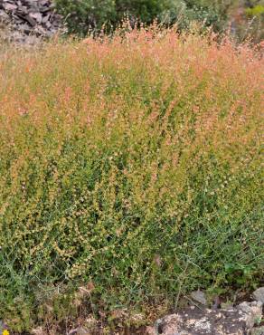
<svg viewBox="0 0 264 335"><path fill-rule="evenodd" d="M51 0L0 0L2 40L33 44L62 29Z"/></svg>

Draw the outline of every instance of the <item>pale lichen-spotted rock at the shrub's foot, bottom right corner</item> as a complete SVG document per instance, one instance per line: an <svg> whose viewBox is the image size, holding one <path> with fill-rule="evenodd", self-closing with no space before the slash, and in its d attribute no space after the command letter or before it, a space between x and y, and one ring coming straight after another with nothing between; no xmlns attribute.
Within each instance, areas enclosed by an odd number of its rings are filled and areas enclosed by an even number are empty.
<svg viewBox="0 0 264 335"><path fill-rule="evenodd" d="M203 292L191 294L193 305L156 321L153 335L264 335L264 287L252 294L253 302L237 306L214 304L208 308Z"/></svg>

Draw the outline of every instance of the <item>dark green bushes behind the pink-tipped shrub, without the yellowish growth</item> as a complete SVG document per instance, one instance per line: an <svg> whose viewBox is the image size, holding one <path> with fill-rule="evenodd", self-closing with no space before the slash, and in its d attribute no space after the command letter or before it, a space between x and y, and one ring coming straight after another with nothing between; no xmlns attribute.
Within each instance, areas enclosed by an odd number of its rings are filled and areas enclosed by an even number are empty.
<svg viewBox="0 0 264 335"><path fill-rule="evenodd" d="M217 31L226 27L229 1L203 0L55 0L64 15L70 33L87 34L91 30L116 28L128 16L130 24L178 23L186 28L193 21L212 25Z"/></svg>

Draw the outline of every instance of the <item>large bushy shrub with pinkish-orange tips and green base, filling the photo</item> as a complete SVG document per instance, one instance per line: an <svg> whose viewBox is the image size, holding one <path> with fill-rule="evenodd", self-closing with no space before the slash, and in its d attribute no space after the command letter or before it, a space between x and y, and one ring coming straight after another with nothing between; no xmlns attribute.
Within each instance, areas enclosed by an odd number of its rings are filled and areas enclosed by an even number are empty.
<svg viewBox="0 0 264 335"><path fill-rule="evenodd" d="M0 69L0 315L14 330L76 315L80 286L108 316L263 279L264 61L250 47L153 28L10 50Z"/></svg>

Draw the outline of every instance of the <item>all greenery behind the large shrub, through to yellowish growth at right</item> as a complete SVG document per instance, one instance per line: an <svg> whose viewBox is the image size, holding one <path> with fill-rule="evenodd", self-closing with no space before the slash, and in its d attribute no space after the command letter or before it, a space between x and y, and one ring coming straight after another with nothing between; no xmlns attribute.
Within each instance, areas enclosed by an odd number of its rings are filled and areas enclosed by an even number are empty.
<svg viewBox="0 0 264 335"><path fill-rule="evenodd" d="M180 30L198 21L224 32L232 24L232 31L240 40L254 35L263 38L263 0L55 0L64 15L69 32L85 35L90 30L115 29L128 17L136 22L178 24Z"/></svg>

